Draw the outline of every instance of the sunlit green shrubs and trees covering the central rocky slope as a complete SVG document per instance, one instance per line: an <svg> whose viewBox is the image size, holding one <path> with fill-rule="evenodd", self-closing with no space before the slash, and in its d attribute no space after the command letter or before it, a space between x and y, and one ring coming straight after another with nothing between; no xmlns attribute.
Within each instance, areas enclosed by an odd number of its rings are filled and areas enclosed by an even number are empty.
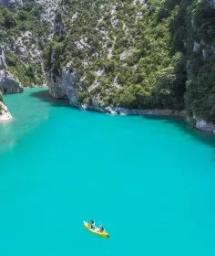
<svg viewBox="0 0 215 256"><path fill-rule="evenodd" d="M179 7L160 19L159 1L154 2L62 2L67 36L56 36L46 53L55 52L56 75L71 61L71 71L83 80L79 101L97 94L104 105L183 109L184 58L172 51L169 33ZM99 70L104 70L101 75ZM97 87L92 86L95 81Z"/></svg>

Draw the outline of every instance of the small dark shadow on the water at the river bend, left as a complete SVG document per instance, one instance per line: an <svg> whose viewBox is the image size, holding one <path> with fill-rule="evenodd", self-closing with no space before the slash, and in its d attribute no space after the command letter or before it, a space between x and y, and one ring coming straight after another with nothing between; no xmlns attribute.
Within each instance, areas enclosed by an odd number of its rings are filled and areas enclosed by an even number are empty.
<svg viewBox="0 0 215 256"><path fill-rule="evenodd" d="M30 96L34 97L34 98L37 98L40 101L47 102L47 103L51 104L52 106L71 107L69 105L67 99L55 99L52 96L50 96L48 90L32 92L30 94Z"/></svg>

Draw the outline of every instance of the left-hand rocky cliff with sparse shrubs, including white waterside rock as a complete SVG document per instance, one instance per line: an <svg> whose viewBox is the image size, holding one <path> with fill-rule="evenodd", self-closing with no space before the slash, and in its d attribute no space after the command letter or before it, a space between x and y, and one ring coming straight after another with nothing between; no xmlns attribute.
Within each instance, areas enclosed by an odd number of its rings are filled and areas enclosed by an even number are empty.
<svg viewBox="0 0 215 256"><path fill-rule="evenodd" d="M0 0L0 92L46 83L43 50L53 36L57 0ZM1 121L10 119L1 101Z"/></svg>

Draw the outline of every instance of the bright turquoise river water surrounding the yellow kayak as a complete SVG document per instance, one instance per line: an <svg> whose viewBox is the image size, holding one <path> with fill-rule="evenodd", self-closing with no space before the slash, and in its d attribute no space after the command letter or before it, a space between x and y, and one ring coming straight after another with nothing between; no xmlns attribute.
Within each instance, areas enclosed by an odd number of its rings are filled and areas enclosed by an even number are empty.
<svg viewBox="0 0 215 256"><path fill-rule="evenodd" d="M81 112L43 89L5 96L0 252L215 255L215 141L171 119ZM102 221L104 240L82 226Z"/></svg>

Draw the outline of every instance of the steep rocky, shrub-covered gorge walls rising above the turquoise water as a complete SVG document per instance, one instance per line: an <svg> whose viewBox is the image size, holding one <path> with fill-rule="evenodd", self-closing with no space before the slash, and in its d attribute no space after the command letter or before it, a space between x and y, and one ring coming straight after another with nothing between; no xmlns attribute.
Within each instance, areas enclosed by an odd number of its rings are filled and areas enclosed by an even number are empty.
<svg viewBox="0 0 215 256"><path fill-rule="evenodd" d="M23 87L47 84L81 109L182 115L215 132L213 1L2 5L6 72Z"/></svg>

